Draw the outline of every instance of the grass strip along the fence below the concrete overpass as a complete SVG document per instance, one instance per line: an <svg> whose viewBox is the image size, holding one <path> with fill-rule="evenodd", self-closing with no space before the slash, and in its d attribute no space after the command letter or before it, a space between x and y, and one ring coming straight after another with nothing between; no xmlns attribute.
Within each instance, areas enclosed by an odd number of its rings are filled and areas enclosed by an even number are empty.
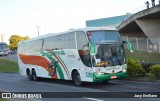
<svg viewBox="0 0 160 101"><path fill-rule="evenodd" d="M126 50L127 58L136 59L145 62L160 62L160 53L158 52L144 52L144 51L134 51L130 53Z"/></svg>

